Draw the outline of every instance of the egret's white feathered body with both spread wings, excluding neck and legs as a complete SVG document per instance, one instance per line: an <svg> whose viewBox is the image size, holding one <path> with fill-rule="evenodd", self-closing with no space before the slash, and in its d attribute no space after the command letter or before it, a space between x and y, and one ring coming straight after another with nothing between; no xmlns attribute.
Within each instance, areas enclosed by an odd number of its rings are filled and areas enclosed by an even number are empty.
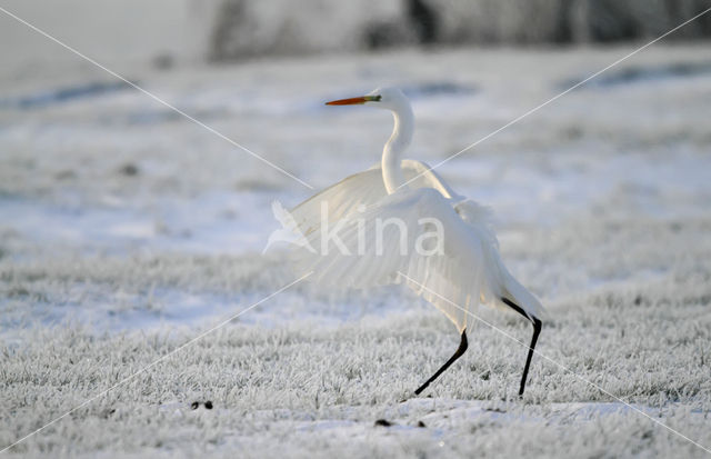
<svg viewBox="0 0 711 459"><path fill-rule="evenodd" d="M313 270L314 278L321 282L339 287L404 282L444 312L460 332L467 327L464 310L473 309L479 302L510 309L502 298L512 300L529 315L542 317L541 303L501 261L489 208L457 194L423 162L403 160L401 164L405 180L412 181L393 194L385 191L382 170L375 164L292 209L299 229L318 252L300 252L302 266ZM329 229L322 227L322 218ZM442 223L441 253L417 251L418 240L433 241L433 236L428 236L434 223L421 223L423 218ZM404 223L407 253L400 250L400 235L393 226L397 223L383 224L387 221ZM381 239L377 235L378 224L383 230ZM350 256L343 256L340 247L323 250L324 239L327 248L329 241L337 241L329 237L333 229Z"/></svg>

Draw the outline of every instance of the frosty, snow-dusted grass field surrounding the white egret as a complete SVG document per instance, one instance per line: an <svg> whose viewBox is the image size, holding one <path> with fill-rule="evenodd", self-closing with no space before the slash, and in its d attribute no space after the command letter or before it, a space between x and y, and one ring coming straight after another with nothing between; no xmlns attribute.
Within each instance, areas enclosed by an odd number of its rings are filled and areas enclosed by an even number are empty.
<svg viewBox="0 0 711 459"><path fill-rule="evenodd" d="M320 189L391 130L327 100L404 88L408 156L432 164L632 49L112 70ZM711 448L709 62L709 43L654 46L439 169L494 209L549 311L537 349L574 373L537 356L519 399L524 348L479 323L413 397L458 345L447 318L303 282L6 457L708 456L619 399ZM297 279L261 250L271 201L312 191L89 63L1 74L3 448Z"/></svg>

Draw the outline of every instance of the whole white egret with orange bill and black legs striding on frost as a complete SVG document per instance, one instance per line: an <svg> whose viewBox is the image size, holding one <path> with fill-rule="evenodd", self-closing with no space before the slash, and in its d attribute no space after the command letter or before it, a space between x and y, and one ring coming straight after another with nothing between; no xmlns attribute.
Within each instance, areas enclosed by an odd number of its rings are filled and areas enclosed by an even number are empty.
<svg viewBox="0 0 711 459"><path fill-rule="evenodd" d="M399 89L377 89L327 104L390 110L394 130L380 164L346 178L291 210L292 218L284 226L306 237L310 248L332 238L340 249L327 250L323 243L320 251L311 249L301 259L304 269L313 271L311 278L340 287L403 282L457 326L459 349L414 391L417 395L467 350L471 309L481 302L520 313L533 325L519 389L523 395L543 308L501 261L488 209L457 194L423 162L401 160L412 140L414 116ZM283 214L280 220L286 221ZM336 230L324 228L324 221ZM433 230L440 230L440 238L427 241L425 247L423 237L433 239ZM420 250L403 250L414 239L422 242Z"/></svg>

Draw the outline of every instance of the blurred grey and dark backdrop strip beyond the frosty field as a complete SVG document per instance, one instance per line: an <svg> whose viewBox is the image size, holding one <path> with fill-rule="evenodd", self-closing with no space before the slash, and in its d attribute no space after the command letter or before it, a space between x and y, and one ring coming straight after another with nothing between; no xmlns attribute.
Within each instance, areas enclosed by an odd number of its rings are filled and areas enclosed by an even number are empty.
<svg viewBox="0 0 711 459"><path fill-rule="evenodd" d="M708 4L705 0L2 2L40 28L51 26L67 41L80 42L89 54L96 51L103 60L131 58L166 67L398 47L571 46L652 39ZM46 38L22 28L7 24L0 33L6 60L74 59L56 53ZM669 40L709 34L711 19L704 16ZM20 42L22 59L17 56ZM11 66L3 67L7 71Z"/></svg>

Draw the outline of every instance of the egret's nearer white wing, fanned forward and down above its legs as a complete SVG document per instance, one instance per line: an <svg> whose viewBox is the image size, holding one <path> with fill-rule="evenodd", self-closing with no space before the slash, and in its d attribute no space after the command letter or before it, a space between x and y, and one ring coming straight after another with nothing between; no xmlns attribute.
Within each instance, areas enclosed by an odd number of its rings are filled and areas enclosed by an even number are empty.
<svg viewBox="0 0 711 459"><path fill-rule="evenodd" d="M495 247L432 188L384 196L308 239L318 253L303 253L301 263L317 281L352 288L403 282L460 332L468 311L501 298L500 263L490 256Z"/></svg>

